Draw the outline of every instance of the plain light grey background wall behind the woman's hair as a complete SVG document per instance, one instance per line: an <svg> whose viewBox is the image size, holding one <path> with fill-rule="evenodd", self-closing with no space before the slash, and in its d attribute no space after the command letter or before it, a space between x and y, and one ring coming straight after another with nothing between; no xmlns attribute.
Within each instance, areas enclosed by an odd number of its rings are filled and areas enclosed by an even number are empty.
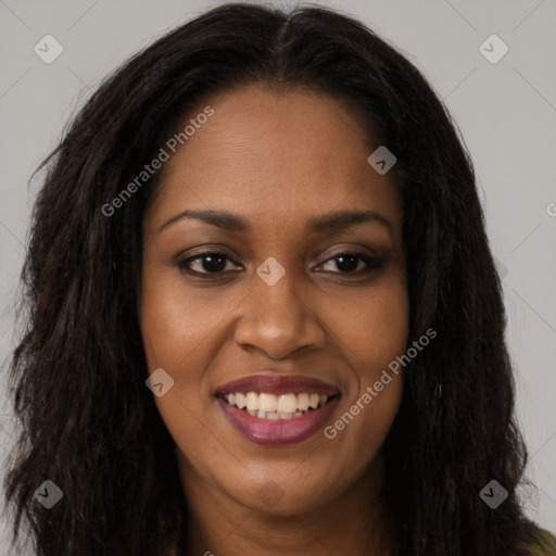
<svg viewBox="0 0 556 556"><path fill-rule="evenodd" d="M13 439L5 396L5 359L15 341L13 300L42 178L30 180L31 173L102 77L218 3L0 0L1 459ZM538 486L523 495L530 517L556 532L556 1L316 3L358 16L397 46L459 126L504 277L518 417L532 456L527 473ZM64 49L51 64L34 52L47 34ZM509 48L495 64L479 50L492 34ZM500 52L495 45L486 48Z"/></svg>

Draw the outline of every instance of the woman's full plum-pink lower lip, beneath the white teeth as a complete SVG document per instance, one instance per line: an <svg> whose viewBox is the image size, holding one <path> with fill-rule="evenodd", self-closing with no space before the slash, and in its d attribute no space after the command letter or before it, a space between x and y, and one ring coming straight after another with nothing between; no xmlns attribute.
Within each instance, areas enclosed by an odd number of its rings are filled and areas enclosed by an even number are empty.
<svg viewBox="0 0 556 556"><path fill-rule="evenodd" d="M333 397L323 407L313 409L302 417L291 419L258 419L243 409L230 405L217 397L224 414L231 426L247 440L265 446L286 446L296 444L312 437L328 419L338 404L339 396Z"/></svg>

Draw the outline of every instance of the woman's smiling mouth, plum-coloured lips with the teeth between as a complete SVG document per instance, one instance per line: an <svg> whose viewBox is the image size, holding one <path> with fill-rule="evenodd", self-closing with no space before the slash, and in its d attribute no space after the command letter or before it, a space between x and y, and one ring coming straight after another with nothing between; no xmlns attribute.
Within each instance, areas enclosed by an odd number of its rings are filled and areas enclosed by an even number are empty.
<svg viewBox="0 0 556 556"><path fill-rule="evenodd" d="M229 382L215 397L244 439L280 446L315 434L338 405L341 393L308 377L257 375Z"/></svg>

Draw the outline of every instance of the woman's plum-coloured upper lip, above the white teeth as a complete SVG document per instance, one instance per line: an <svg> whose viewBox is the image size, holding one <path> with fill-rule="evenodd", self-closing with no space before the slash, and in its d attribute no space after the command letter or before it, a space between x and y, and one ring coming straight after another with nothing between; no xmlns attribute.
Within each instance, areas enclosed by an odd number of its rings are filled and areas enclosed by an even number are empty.
<svg viewBox="0 0 556 556"><path fill-rule="evenodd" d="M267 394L314 393L332 396L340 390L328 382L303 375L252 375L219 387L216 394L264 392Z"/></svg>

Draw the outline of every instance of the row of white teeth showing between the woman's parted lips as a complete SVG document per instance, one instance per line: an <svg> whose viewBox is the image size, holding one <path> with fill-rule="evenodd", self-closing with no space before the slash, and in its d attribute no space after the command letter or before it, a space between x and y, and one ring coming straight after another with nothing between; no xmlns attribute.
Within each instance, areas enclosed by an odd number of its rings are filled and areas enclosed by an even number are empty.
<svg viewBox="0 0 556 556"><path fill-rule="evenodd" d="M224 399L230 404L244 409L252 417L260 419L292 419L302 417L307 410L323 407L328 401L324 394L293 393L268 394L262 392L236 392L226 394Z"/></svg>

